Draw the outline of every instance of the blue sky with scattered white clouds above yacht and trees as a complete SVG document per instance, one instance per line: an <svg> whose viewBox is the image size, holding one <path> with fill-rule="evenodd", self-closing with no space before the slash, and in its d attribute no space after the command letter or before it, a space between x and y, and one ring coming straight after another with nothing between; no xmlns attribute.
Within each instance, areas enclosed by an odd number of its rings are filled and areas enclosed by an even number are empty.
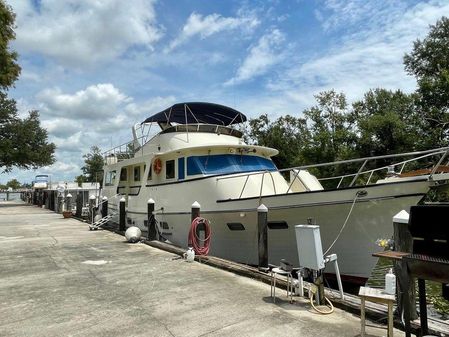
<svg viewBox="0 0 449 337"><path fill-rule="evenodd" d="M11 97L37 109L56 163L14 170L72 181L82 155L131 138L173 103L209 101L248 117L300 115L314 94L350 101L371 88L412 92L402 58L449 1L6 0L22 74Z"/></svg>

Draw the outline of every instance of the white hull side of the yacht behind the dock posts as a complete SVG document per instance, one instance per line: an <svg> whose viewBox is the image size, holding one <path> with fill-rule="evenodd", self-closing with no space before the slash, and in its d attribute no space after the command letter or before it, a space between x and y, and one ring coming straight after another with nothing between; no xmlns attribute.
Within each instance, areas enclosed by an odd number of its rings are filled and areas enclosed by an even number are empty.
<svg viewBox="0 0 449 337"><path fill-rule="evenodd" d="M287 259L298 265L294 226L307 223L308 218L320 225L323 249L338 235L353 204L357 191L367 195L358 197L349 220L330 253L338 255L343 275L368 278L377 259L372 253L381 248L375 242L393 235L392 217L402 209L415 205L429 189L428 181L408 181L369 185L331 191L303 192L226 200L217 202L214 190L215 178L183 182L158 187L143 187L138 196L128 200L128 217L142 229L146 219L146 201L156 201L158 222L168 224L161 228L170 242L187 246L190 228L190 206L201 204L201 214L210 220L212 240L210 254L247 264L258 263L257 212L260 203L269 209L269 221L285 221L287 229L268 230L269 263L279 264ZM210 187L210 186L209 186ZM208 190L206 194L204 191ZM173 198L177 195L176 199ZM231 231L227 223L241 223L243 231Z"/></svg>

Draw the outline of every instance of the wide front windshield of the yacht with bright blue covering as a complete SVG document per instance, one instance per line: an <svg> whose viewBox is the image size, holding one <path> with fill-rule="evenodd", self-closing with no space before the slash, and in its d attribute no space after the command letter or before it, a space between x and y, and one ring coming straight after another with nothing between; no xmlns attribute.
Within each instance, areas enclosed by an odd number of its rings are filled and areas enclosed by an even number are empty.
<svg viewBox="0 0 449 337"><path fill-rule="evenodd" d="M187 157L187 175L252 171L276 171L276 166L270 159L251 155L219 154Z"/></svg>

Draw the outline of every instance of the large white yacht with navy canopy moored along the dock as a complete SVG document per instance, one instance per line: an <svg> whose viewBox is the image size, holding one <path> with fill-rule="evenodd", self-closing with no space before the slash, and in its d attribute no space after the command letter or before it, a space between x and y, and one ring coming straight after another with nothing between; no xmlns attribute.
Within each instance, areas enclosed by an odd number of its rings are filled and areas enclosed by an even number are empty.
<svg viewBox="0 0 449 337"><path fill-rule="evenodd" d="M103 196L110 211L125 197L127 225L146 230L151 198L159 237L187 247L197 201L211 224L210 255L257 265L257 208L264 204L269 263L298 265L294 226L312 221L320 225L323 249L338 255L342 275L363 281L377 261L376 240L392 237L392 217L449 178L441 173L449 148L403 154L397 162L383 156L316 165L359 163L355 173L332 178L312 175L311 165L278 170L271 159L276 149L245 144L231 127L244 121L222 105L180 103L134 126L133 141L105 152ZM161 130L150 138L156 124ZM404 174L430 160L437 162L433 169ZM374 162L382 166L373 168ZM332 180L332 188L323 187Z"/></svg>

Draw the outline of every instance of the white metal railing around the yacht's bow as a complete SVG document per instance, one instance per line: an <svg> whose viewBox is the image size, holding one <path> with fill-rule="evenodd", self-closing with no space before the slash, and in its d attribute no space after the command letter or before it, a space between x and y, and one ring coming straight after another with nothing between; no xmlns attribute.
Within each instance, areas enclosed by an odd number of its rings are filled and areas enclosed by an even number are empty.
<svg viewBox="0 0 449 337"><path fill-rule="evenodd" d="M286 194L292 190L294 181L296 178L298 178L299 172L301 170L313 170L316 168L322 168L322 167L326 167L326 166L338 166L338 165L361 163L361 165L358 166L358 170L355 173L317 178L320 183L321 182L329 182L329 181L337 181L336 188L339 189L339 188L343 188L343 187L353 187L353 186L363 186L363 185L373 184L373 183L375 183L375 182L373 182L374 177L377 178L376 181L378 181L380 179L383 179L383 178L389 177L389 176L400 176L401 174L403 174L403 172L408 164L411 164L413 162L423 161L423 160L425 160L427 164L432 165L432 168L428 172L428 179L431 179L432 176L438 172L439 168L441 167L441 165L443 163L445 163L445 165L449 164L448 155L449 155L449 147L443 147L443 148L426 150L426 151L416 151L416 152L407 152L407 153L400 153L400 154L348 159L348 160L340 160L340 161L320 163L320 164L314 164L314 165L302 165L302 166L296 166L296 167L281 169L281 170L276 170L276 171L258 171L258 172L242 173L242 174L236 174L236 175L231 175L231 176L218 177L217 181L238 179L238 178L244 177L245 181L243 183L242 189L240 190L240 193L238 196L238 199L240 199L244 195L244 192L248 186L248 181L249 181L250 177L262 175L261 186L259 189L259 198L261 198L262 193L263 193L263 187L264 187L264 177L267 173L269 173L271 176L272 183L273 183L273 191L274 191L274 194L277 195L278 192L280 194ZM438 159L428 160L428 159L431 159L431 157L435 157L435 156L438 156ZM380 167L376 167L373 169L365 169L370 162L384 161L384 160L388 160L388 159L403 158L403 157L412 157L412 158L394 162L394 163L389 163L387 165L382 165ZM396 169L398 169L398 170L396 171ZM285 191L277 190L276 191L276 184L275 184L274 178L273 178L274 172L278 172L281 175L283 175L284 177L286 177L287 174L290 173L290 177L293 177L293 179L291 179L291 181L288 184L287 190L285 190ZM291 172L293 174L291 174ZM362 176L368 176L368 178L361 179ZM344 180L349 179L349 178L352 178L351 182L347 186L343 186Z"/></svg>

